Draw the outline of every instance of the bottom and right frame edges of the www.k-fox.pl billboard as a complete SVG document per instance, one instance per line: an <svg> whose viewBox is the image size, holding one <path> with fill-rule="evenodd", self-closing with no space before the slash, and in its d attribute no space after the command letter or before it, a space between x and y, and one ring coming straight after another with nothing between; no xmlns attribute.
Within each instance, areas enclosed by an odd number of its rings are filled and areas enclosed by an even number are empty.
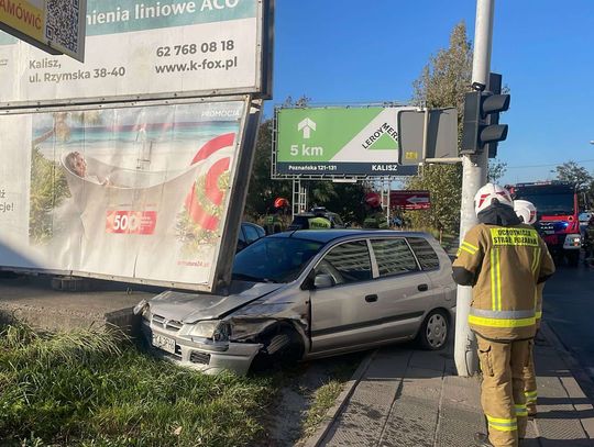
<svg viewBox="0 0 594 447"><path fill-rule="evenodd" d="M74 107L88 104L118 104L121 102L155 101L155 100L177 100L177 99L200 99L219 98L229 96L250 94L254 99L272 99L273 89L273 53L274 53L274 13L276 0L256 0L256 67L255 86L253 88L230 88L190 90L186 92L169 91L164 93L142 93L122 96L100 96L89 98L68 98L38 101L9 101L0 102L0 111L6 109L31 109L31 108L54 108ZM114 105L113 105L114 107Z"/></svg>

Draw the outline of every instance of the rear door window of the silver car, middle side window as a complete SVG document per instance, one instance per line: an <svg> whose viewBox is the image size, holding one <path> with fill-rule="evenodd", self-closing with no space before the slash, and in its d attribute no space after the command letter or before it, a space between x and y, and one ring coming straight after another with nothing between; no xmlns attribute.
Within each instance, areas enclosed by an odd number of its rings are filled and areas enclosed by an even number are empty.
<svg viewBox="0 0 594 447"><path fill-rule="evenodd" d="M373 239L371 243L380 277L419 270L415 256L404 238Z"/></svg>

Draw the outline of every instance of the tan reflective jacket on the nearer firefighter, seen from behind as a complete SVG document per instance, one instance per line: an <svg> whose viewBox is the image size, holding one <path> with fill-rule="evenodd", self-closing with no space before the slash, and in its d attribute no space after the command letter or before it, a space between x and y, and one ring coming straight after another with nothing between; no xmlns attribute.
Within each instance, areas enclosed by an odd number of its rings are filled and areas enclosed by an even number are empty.
<svg viewBox="0 0 594 447"><path fill-rule="evenodd" d="M537 284L553 272L547 245L526 224L474 226L453 262L455 282L473 287L471 328L499 342L535 336Z"/></svg>

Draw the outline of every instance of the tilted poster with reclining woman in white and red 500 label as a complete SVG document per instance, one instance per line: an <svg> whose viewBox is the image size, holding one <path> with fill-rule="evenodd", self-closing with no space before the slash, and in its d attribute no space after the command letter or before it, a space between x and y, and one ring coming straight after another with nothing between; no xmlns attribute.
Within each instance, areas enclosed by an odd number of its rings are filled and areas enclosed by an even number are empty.
<svg viewBox="0 0 594 447"><path fill-rule="evenodd" d="M0 265L208 284L245 113L222 101L1 116Z"/></svg>

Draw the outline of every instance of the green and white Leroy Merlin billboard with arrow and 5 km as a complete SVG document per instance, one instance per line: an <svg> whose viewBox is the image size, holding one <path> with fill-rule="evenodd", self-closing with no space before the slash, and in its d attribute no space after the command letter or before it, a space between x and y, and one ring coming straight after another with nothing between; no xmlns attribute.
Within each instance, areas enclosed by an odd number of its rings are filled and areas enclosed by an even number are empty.
<svg viewBox="0 0 594 447"><path fill-rule="evenodd" d="M277 109L273 177L397 177L398 115L407 107Z"/></svg>

